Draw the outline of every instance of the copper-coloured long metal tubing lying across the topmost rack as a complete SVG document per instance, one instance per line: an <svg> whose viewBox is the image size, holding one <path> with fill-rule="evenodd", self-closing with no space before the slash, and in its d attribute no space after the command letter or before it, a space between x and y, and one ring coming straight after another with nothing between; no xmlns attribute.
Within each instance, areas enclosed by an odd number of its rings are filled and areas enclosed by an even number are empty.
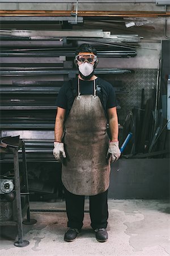
<svg viewBox="0 0 170 256"><path fill-rule="evenodd" d="M73 16L75 11L0 10L1 16ZM78 11L78 16L159 17L170 16L170 11Z"/></svg>

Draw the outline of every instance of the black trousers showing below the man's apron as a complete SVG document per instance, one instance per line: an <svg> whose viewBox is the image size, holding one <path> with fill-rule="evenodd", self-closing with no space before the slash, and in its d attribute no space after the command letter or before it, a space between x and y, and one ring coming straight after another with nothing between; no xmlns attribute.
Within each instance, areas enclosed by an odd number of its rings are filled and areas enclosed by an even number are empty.
<svg viewBox="0 0 170 256"><path fill-rule="evenodd" d="M90 199L90 218L91 226L96 228L107 228L108 220L108 191L95 196L89 196ZM78 196L70 193L65 188L66 211L69 228L81 229L84 218L84 196Z"/></svg>

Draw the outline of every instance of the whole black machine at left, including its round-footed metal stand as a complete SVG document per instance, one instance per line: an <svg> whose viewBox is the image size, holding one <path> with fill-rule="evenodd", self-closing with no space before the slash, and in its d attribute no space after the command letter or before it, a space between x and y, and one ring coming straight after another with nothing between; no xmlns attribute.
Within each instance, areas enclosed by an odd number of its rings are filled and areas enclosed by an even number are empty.
<svg viewBox="0 0 170 256"><path fill-rule="evenodd" d="M22 148L22 167L19 165L18 151ZM24 247L29 245L29 241L23 240L23 224L35 224L36 220L30 219L29 192L27 177L27 162L25 157L25 145L19 136L1 138L0 156L1 167L5 160L5 154L13 155L14 168L4 172L1 168L0 176L0 225L17 225L18 241L15 246ZM27 220L23 218L27 214Z"/></svg>

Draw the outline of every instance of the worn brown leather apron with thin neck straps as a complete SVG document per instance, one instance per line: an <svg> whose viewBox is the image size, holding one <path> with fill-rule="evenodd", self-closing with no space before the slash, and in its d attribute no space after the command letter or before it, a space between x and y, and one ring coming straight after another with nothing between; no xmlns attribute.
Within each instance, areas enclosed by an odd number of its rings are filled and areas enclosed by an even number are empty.
<svg viewBox="0 0 170 256"><path fill-rule="evenodd" d="M111 159L106 155L109 146L107 118L100 98L94 95L78 96L65 122L63 137L66 158L62 163L62 183L74 195L97 195L109 187Z"/></svg>

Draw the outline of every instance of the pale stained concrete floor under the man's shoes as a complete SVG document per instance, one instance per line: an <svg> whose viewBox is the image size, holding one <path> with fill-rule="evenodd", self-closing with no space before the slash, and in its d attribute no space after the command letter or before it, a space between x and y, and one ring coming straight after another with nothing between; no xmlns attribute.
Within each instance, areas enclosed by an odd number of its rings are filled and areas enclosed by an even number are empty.
<svg viewBox="0 0 170 256"><path fill-rule="evenodd" d="M24 239L29 245L15 247L16 227L2 226L0 255L170 255L169 201L109 200L108 204L109 240L105 243L96 241L89 213L85 213L78 238L65 242L66 213L31 212L37 223L23 225ZM31 209L65 209L65 202L31 202Z"/></svg>

